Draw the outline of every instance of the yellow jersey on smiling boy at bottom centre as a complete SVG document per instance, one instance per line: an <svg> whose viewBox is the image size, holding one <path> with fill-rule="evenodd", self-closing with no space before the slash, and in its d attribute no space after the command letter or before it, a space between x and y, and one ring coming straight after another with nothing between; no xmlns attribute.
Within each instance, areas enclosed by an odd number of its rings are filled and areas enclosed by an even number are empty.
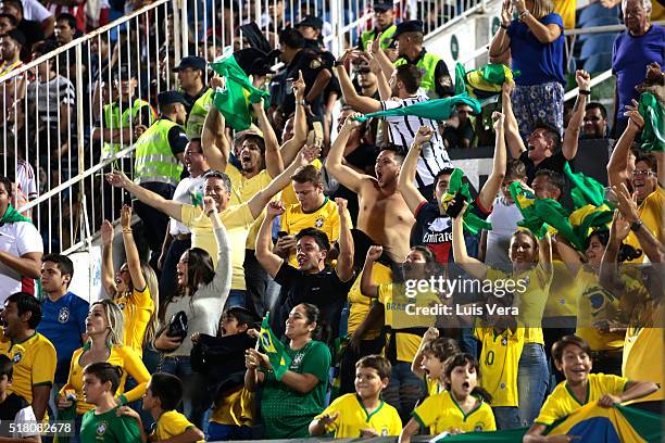
<svg viewBox="0 0 665 443"><path fill-rule="evenodd" d="M339 414L337 419L326 427L326 432L335 433L336 439L359 438L361 432L368 428L381 436L399 435L402 431L402 420L394 407L381 401L375 412L367 414L362 400L355 393L336 398L316 418L324 414Z"/></svg>

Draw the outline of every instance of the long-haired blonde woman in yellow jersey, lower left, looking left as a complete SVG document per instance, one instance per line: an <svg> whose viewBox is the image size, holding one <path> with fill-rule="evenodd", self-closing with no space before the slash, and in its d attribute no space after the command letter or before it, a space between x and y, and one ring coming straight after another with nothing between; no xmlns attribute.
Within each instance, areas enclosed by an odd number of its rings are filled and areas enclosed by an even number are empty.
<svg viewBox="0 0 665 443"><path fill-rule="evenodd" d="M55 405L61 410L76 408L77 426L79 426L80 416L95 408L92 404L85 401L84 395L85 367L92 363L106 362L122 369L123 374L116 391L120 404L136 402L146 392L150 374L138 353L122 344L122 331L123 313L115 303L102 300L90 306L90 314L86 319L88 343L74 351L67 383L60 390L55 398ZM131 376L138 384L124 392L127 376ZM76 395L76 400L70 400L72 393Z"/></svg>

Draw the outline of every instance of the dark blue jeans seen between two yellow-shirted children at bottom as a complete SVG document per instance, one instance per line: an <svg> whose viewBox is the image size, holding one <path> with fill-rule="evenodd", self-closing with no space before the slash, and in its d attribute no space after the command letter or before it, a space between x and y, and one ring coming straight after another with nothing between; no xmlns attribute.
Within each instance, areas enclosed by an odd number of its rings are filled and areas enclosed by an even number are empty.
<svg viewBox="0 0 665 443"><path fill-rule="evenodd" d="M390 383L384 390L384 400L393 406L402 418L409 422L416 403L425 394L425 382L411 371L411 363L398 362L392 365Z"/></svg>

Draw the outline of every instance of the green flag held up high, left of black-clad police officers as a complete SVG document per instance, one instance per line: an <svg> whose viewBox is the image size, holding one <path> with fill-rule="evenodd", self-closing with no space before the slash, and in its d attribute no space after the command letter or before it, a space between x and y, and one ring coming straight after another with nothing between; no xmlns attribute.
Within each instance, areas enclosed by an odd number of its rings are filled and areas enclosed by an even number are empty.
<svg viewBox="0 0 665 443"><path fill-rule="evenodd" d="M248 129L252 123L250 103L259 103L261 99L269 98L269 92L252 86L244 71L238 65L230 47L224 50L219 59L211 63L211 67L226 79L226 88L217 89L213 97L215 107L224 115L228 126L236 130Z"/></svg>

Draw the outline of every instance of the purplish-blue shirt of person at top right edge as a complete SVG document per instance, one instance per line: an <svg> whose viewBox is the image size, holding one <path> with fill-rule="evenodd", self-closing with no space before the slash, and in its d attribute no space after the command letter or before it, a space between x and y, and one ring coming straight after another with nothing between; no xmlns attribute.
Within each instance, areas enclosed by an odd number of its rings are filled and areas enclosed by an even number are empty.
<svg viewBox="0 0 665 443"><path fill-rule="evenodd" d="M612 72L616 75L618 119L626 119L626 104L639 97L635 87L644 81L647 65L651 62L665 65L665 29L661 26L651 25L647 34L639 37L631 36L626 29L614 40Z"/></svg>

